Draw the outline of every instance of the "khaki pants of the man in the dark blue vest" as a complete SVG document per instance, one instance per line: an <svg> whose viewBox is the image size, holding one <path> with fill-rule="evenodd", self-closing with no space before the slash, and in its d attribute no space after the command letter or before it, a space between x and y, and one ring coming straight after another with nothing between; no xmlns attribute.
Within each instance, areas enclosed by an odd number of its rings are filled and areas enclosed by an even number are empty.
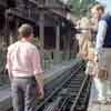
<svg viewBox="0 0 111 111"><path fill-rule="evenodd" d="M100 80L94 78L95 88L98 90L98 98L100 100L111 98L111 48L103 48L99 56L99 65L107 67L108 79Z"/></svg>

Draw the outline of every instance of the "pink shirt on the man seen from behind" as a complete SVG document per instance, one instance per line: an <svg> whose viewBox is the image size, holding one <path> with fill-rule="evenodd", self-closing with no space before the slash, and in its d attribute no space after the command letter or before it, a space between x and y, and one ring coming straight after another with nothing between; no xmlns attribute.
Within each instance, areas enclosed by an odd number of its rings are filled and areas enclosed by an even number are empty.
<svg viewBox="0 0 111 111"><path fill-rule="evenodd" d="M28 41L18 41L8 48L9 75L32 77L42 73L38 49Z"/></svg>

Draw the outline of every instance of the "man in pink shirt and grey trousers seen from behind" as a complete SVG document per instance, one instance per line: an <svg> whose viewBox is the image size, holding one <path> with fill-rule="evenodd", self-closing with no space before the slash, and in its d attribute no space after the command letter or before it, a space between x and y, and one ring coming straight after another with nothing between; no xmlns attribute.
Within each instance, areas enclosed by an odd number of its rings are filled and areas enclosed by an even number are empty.
<svg viewBox="0 0 111 111"><path fill-rule="evenodd" d="M44 95L40 54L37 47L31 43L33 28L26 23L18 32L20 40L9 46L7 53L13 110L36 111L37 97Z"/></svg>

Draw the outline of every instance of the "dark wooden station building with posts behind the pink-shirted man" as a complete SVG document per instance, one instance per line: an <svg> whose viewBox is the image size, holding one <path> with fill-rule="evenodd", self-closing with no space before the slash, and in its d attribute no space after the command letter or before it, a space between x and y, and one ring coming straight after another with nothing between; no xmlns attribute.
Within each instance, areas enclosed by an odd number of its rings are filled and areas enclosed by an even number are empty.
<svg viewBox="0 0 111 111"><path fill-rule="evenodd" d="M62 62L77 53L70 8L59 0L0 0L0 48L18 40L18 27L30 23L39 38L42 60Z"/></svg>

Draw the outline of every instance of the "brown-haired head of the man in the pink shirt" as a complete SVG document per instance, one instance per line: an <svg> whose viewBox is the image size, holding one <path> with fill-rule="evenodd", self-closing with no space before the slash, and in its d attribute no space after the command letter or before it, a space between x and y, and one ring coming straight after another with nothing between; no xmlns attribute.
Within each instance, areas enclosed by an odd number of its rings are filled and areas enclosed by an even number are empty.
<svg viewBox="0 0 111 111"><path fill-rule="evenodd" d="M23 23L19 28L18 32L21 38L29 38L31 34L33 34L33 28L28 23Z"/></svg>

